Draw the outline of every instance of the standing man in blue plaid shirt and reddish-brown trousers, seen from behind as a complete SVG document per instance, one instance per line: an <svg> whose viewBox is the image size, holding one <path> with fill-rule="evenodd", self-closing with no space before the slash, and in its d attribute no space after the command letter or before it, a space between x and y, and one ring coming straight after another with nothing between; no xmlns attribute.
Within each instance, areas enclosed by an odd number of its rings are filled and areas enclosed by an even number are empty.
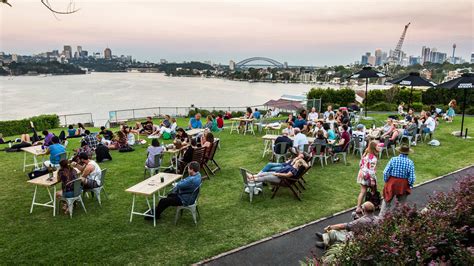
<svg viewBox="0 0 474 266"><path fill-rule="evenodd" d="M399 203L404 203L415 183L415 164L408 158L408 154L413 151L407 144L402 144L397 148L397 151L400 152L400 155L390 159L383 171L385 185L380 216L385 215L391 209L395 197Z"/></svg>

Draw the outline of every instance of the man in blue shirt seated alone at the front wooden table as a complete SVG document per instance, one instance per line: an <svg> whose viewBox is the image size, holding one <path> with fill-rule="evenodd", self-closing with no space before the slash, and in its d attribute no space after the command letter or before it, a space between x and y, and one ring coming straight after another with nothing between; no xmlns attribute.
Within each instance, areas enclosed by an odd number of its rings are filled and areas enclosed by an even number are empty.
<svg viewBox="0 0 474 266"><path fill-rule="evenodd" d="M162 198L153 210L157 219L159 219L161 213L170 206L188 206L196 201L197 193L194 192L199 188L202 182L199 170L200 165L198 162L193 161L189 163L189 176L176 183L166 198ZM145 216L145 219L151 220L153 217Z"/></svg>

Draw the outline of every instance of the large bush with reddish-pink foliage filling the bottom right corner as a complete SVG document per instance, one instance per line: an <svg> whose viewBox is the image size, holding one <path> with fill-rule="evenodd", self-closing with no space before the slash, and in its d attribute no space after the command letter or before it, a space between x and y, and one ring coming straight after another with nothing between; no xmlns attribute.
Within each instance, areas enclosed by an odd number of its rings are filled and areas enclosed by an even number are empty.
<svg viewBox="0 0 474 266"><path fill-rule="evenodd" d="M431 197L418 211L404 205L374 227L355 231L330 253L330 265L473 265L474 177ZM324 258L323 258L324 261Z"/></svg>

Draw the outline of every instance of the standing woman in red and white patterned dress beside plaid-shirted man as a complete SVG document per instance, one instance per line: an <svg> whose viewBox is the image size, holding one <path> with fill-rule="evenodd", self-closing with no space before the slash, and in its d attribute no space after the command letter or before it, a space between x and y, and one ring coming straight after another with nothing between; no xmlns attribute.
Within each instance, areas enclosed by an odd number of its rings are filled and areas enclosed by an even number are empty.
<svg viewBox="0 0 474 266"><path fill-rule="evenodd" d="M362 203L366 197L367 189L377 190L377 155L378 146L376 141L371 141L367 146L359 164L359 173L357 174L357 183L360 185L360 193L357 197L356 213L362 212ZM372 192L371 191L371 192Z"/></svg>

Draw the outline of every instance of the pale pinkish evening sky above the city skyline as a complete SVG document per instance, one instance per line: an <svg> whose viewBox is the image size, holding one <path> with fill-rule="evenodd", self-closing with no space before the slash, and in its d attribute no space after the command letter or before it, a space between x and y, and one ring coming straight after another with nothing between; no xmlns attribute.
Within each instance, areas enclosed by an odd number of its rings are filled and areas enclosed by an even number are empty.
<svg viewBox="0 0 474 266"><path fill-rule="evenodd" d="M138 60L228 64L264 56L289 65L336 65L365 52L394 49L411 22L402 50L436 47L470 59L474 5L470 0L182 1L73 0L79 9L54 16L40 0L0 5L0 51L35 54L72 45L107 46ZM49 0L59 10L71 0Z"/></svg>

